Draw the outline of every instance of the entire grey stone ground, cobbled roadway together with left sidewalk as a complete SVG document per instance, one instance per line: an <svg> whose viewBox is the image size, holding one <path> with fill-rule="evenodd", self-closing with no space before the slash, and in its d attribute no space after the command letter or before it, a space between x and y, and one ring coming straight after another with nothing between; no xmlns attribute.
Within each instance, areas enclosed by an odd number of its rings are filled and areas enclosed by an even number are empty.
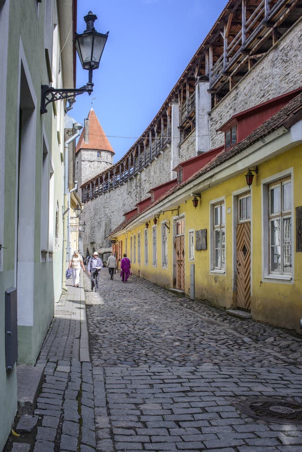
<svg viewBox="0 0 302 452"><path fill-rule="evenodd" d="M57 304L36 409L5 452L302 451L302 407L296 423L281 409L302 403L302 337L135 276L100 280ZM271 416L252 417L263 400Z"/></svg>

